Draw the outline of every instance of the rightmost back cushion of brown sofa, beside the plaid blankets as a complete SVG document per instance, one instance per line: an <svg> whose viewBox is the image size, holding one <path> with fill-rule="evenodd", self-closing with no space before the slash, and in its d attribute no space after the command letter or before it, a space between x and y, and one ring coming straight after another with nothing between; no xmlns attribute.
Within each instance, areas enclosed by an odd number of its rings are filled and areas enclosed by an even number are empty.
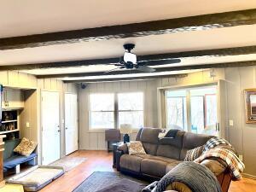
<svg viewBox="0 0 256 192"><path fill-rule="evenodd" d="M180 160L184 160L188 150L206 144L212 137L213 136L185 132L183 136L183 148L181 150Z"/></svg>

